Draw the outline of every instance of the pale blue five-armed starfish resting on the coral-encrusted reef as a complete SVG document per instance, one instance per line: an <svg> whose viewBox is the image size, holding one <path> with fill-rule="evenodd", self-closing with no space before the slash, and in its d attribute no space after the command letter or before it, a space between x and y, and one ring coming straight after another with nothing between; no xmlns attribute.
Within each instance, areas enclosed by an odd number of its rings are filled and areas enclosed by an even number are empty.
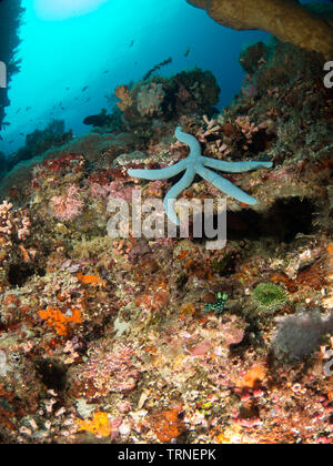
<svg viewBox="0 0 333 466"><path fill-rule="evenodd" d="M185 173L167 193L163 205L169 219L179 225L179 220L174 211L174 202L179 194L192 184L195 173L200 174L205 181L212 183L215 188L223 191L231 197L236 199L244 204L255 204L256 199L246 194L240 188L235 186L231 181L225 180L210 169L220 170L222 172L243 173L256 169L270 169L272 162L245 161L245 162L224 162L222 160L210 159L201 154L201 146L196 138L192 134L183 133L181 126L174 132L175 138L190 146L190 154L186 159L181 160L174 165L160 170L129 170L128 173L133 178L142 178L144 180L167 180L185 170Z"/></svg>

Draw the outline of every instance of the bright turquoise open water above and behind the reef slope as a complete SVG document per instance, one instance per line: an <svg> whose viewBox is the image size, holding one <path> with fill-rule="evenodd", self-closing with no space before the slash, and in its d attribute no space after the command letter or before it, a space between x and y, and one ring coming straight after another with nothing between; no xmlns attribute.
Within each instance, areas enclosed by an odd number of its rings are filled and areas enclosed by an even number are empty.
<svg viewBox="0 0 333 466"><path fill-rule="evenodd" d="M140 80L169 57L173 62L161 75L194 65L211 70L221 87L222 108L244 79L240 51L268 37L219 26L185 0L23 0L22 6L22 65L10 83L10 126L0 141L7 154L54 118L64 119L74 135L88 132L82 123L87 115L111 110L105 94Z"/></svg>

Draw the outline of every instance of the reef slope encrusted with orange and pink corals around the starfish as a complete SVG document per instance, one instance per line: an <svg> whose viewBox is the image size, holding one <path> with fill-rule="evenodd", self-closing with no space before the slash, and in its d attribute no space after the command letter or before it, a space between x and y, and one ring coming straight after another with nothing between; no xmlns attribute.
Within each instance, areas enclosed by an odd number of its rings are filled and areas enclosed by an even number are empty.
<svg viewBox="0 0 333 466"><path fill-rule="evenodd" d="M291 44L241 63L251 92L220 114L210 72L123 83L101 126L59 146L34 134L46 151L2 180L2 443L332 443L332 91ZM228 200L221 250L192 223L109 237L111 197L162 200L178 181L128 170L185 159L179 124L208 158L273 162L225 173L258 204ZM181 194L221 196L201 179Z"/></svg>

